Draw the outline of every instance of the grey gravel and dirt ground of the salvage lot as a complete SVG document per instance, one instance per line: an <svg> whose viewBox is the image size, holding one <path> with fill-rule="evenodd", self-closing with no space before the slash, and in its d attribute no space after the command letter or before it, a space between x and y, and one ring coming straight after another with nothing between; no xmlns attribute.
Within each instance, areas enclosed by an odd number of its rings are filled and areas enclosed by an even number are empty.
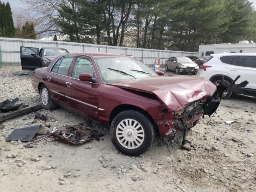
<svg viewBox="0 0 256 192"><path fill-rule="evenodd" d="M20 98L23 104L40 103L20 65L0 68L0 102ZM61 128L85 121L62 108L40 110L51 118L35 121L34 113L8 120L0 130L0 189L3 191L256 191L256 98L234 95L222 100L217 114L206 117L188 132L192 150L180 150L179 138L172 140L168 152L166 140L156 139L152 148L140 157L118 153L110 141L108 129L104 140L71 146L42 140L33 148L6 142L17 128L50 123ZM0 112L0 115L3 113ZM209 122L210 120L210 122ZM228 120L237 123L227 124ZM50 128L47 128L50 130ZM32 160L38 157L39 161ZM25 161L23 161L25 160ZM103 167L103 162L107 166ZM22 166L18 166L23 162ZM40 172L40 175L38 173ZM62 180L63 176L63 180Z"/></svg>

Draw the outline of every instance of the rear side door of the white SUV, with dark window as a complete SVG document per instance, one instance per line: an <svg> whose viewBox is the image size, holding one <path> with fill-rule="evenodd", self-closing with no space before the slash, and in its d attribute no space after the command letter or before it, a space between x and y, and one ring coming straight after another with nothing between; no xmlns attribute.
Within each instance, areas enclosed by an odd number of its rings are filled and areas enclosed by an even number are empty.
<svg viewBox="0 0 256 192"><path fill-rule="evenodd" d="M233 80L240 75L236 84L247 80L246 88L256 89L256 56L239 56L228 66L228 76Z"/></svg>

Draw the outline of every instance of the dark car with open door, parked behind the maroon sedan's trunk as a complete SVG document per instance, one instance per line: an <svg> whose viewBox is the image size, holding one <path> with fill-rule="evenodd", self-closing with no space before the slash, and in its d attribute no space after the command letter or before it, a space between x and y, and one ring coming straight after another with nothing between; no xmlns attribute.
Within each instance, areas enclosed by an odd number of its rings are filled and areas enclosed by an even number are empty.
<svg viewBox="0 0 256 192"><path fill-rule="evenodd" d="M68 54L64 48L20 47L22 70L34 71L36 68L47 67L57 56Z"/></svg>

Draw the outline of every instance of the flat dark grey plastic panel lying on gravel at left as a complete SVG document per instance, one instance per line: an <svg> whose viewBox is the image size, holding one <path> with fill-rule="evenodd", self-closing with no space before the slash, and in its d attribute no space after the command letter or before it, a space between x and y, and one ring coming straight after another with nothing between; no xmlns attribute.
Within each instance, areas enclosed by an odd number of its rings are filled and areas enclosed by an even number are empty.
<svg viewBox="0 0 256 192"><path fill-rule="evenodd" d="M45 130L42 125L16 129L9 135L6 141L11 141L11 140L31 141L36 135L36 133L42 134L43 132L45 132Z"/></svg>

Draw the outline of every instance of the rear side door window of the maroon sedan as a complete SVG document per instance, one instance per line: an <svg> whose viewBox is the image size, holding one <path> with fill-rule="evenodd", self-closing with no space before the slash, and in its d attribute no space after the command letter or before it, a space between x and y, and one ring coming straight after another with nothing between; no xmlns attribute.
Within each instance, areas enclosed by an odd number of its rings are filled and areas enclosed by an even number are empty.
<svg viewBox="0 0 256 192"><path fill-rule="evenodd" d="M70 64L72 63L72 60L74 59L74 56L64 56L60 58L53 66L51 72L62 74L62 75L68 75L68 69L70 67Z"/></svg>

